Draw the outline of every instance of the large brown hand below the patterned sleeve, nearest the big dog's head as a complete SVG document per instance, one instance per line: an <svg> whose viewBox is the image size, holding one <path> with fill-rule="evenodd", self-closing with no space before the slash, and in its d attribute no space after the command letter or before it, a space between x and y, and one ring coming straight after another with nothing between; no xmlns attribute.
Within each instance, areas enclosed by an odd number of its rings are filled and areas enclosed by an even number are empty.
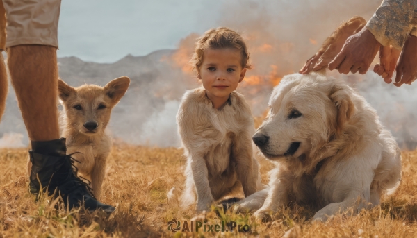
<svg viewBox="0 0 417 238"><path fill-rule="evenodd" d="M366 28L347 38L343 49L332 62L329 69L338 69L341 74L365 74L375 58L381 43Z"/></svg>

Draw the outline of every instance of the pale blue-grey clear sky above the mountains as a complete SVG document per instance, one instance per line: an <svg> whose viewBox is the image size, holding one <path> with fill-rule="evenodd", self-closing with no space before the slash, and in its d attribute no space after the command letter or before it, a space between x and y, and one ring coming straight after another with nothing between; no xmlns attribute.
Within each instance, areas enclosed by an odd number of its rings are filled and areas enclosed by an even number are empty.
<svg viewBox="0 0 417 238"><path fill-rule="evenodd" d="M181 38L214 27L225 0L63 0L58 57L115 62L176 49Z"/></svg>

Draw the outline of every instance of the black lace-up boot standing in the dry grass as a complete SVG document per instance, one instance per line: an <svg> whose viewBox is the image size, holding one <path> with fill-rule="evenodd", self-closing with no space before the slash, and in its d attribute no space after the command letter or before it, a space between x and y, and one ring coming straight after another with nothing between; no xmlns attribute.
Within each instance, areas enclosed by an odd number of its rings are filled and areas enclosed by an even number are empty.
<svg viewBox="0 0 417 238"><path fill-rule="evenodd" d="M38 194L40 189L48 194L63 197L65 206L79 207L84 205L88 210L104 210L111 213L115 207L97 201L90 192L88 185L76 176L74 159L67 155L65 138L47 142L32 142L32 170L29 188L32 194ZM73 169L74 167L74 169Z"/></svg>

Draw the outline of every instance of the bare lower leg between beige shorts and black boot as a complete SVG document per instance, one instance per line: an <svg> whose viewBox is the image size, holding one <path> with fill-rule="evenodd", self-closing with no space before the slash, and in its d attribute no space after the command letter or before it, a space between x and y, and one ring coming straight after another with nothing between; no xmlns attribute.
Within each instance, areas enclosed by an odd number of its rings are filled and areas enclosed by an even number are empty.
<svg viewBox="0 0 417 238"><path fill-rule="evenodd" d="M42 45L10 47L8 67L29 138L32 141L58 139L56 48Z"/></svg>

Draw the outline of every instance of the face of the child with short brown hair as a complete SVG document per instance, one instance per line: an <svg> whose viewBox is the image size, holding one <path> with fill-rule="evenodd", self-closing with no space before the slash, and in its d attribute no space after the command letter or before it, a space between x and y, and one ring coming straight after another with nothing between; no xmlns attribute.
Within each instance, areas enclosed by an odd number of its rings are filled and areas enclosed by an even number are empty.
<svg viewBox="0 0 417 238"><path fill-rule="evenodd" d="M222 100L236 90L238 83L245 77L246 69L241 65L238 49L206 49L198 78L202 80L208 99Z"/></svg>

